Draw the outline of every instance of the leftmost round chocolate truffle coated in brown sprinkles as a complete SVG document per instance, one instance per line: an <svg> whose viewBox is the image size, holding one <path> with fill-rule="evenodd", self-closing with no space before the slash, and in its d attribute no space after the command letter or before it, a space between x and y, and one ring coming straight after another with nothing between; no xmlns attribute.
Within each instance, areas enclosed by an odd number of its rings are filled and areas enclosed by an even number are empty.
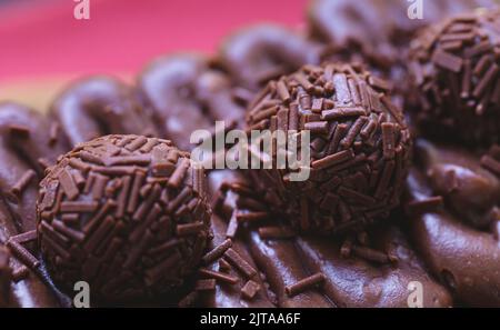
<svg viewBox="0 0 500 330"><path fill-rule="evenodd" d="M54 282L92 301L154 298L183 283L210 232L203 170L168 140L107 136L59 158L40 183L39 244Z"/></svg>

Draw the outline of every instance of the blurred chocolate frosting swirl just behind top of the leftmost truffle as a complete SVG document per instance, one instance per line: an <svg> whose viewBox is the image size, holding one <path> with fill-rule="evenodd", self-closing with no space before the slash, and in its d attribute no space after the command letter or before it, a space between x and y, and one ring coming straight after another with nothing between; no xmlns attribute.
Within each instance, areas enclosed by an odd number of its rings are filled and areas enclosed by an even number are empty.
<svg viewBox="0 0 500 330"><path fill-rule="evenodd" d="M54 100L50 116L71 146L110 133L159 136L139 92L108 77L73 82Z"/></svg>

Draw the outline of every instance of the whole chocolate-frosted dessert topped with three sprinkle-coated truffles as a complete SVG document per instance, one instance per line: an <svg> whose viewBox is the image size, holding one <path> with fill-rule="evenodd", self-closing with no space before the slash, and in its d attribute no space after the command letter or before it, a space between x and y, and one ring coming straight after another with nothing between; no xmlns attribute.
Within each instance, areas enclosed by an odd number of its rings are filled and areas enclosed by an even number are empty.
<svg viewBox="0 0 500 330"><path fill-rule="evenodd" d="M500 4L300 2L0 93L0 307L500 307Z"/></svg>

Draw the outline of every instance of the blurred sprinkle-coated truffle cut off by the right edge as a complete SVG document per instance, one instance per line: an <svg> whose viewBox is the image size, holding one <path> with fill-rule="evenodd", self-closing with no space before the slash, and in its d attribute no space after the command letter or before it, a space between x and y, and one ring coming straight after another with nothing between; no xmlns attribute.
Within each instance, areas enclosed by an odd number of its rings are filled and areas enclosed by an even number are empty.
<svg viewBox="0 0 500 330"><path fill-rule="evenodd" d="M416 119L426 133L468 144L499 141L500 11L476 11L427 28L412 42Z"/></svg>

